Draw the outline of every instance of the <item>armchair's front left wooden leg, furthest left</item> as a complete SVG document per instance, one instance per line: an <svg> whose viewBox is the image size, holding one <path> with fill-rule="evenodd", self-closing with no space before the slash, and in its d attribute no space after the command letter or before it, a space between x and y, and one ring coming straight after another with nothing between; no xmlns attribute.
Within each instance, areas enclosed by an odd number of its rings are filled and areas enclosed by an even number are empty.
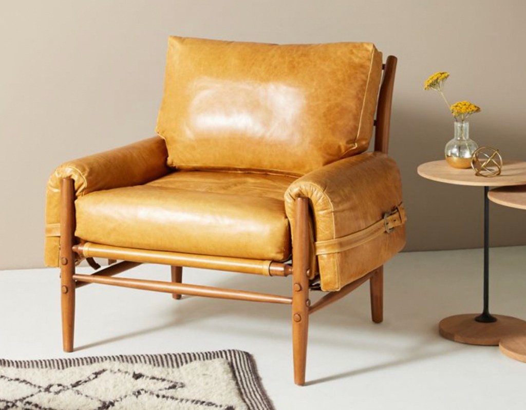
<svg viewBox="0 0 526 410"><path fill-rule="evenodd" d="M60 305L62 307L62 344L64 352L73 352L75 330L75 192L71 178L62 180L60 193Z"/></svg>

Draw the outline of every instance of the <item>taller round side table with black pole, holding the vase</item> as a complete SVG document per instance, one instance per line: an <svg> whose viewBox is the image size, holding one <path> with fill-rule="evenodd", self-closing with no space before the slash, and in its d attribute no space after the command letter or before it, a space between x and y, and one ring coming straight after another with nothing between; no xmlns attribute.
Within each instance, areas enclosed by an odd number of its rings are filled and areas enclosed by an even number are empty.
<svg viewBox="0 0 526 410"><path fill-rule="evenodd" d="M418 175L454 185L484 187L484 295L481 314L446 317L439 324L440 335L454 342L472 345L497 346L502 338L517 334L526 322L511 316L491 315L489 311L489 199L491 186L526 184L526 162L507 161L499 176L477 176L472 169L452 168L445 160L433 161L418 167Z"/></svg>

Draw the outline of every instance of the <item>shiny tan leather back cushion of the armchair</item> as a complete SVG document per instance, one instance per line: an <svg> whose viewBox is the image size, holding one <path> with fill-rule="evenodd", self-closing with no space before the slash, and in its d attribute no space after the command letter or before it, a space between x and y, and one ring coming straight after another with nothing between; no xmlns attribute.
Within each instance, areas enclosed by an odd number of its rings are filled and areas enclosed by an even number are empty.
<svg viewBox="0 0 526 410"><path fill-rule="evenodd" d="M174 168L306 174L366 151L381 72L371 43L169 37L156 131Z"/></svg>

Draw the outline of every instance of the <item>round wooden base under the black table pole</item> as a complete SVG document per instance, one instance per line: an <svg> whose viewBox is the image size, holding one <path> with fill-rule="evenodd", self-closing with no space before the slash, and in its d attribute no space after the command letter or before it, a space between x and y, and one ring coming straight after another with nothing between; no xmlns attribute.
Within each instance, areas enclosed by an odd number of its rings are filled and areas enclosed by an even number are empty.
<svg viewBox="0 0 526 410"><path fill-rule="evenodd" d="M497 322L481 323L475 320L479 315L480 313L470 313L442 319L438 325L440 335L453 342L498 346L501 339L524 334L526 322L521 319L511 316L493 315L497 318Z"/></svg>

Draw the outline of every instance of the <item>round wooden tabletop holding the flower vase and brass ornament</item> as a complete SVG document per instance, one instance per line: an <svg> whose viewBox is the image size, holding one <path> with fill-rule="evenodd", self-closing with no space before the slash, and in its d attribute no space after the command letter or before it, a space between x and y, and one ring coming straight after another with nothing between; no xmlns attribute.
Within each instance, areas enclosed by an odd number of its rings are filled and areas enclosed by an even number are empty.
<svg viewBox="0 0 526 410"><path fill-rule="evenodd" d="M448 165L445 159L422 164L418 175L432 181L455 185L510 186L526 185L526 162L504 161L502 173L494 177L477 176L473 169L458 169Z"/></svg>

